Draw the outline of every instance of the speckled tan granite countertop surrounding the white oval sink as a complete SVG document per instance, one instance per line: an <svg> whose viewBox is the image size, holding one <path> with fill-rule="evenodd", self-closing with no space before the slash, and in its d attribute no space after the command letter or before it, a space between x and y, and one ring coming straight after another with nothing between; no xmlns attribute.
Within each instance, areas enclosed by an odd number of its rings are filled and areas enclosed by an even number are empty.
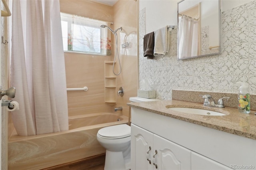
<svg viewBox="0 0 256 170"><path fill-rule="evenodd" d="M232 107L214 108L203 106L202 103L193 103L178 100L150 101L141 103L127 103L128 106L150 111L181 121L194 123L204 127L214 128L231 134L256 140L256 111L249 114L239 113L238 109ZM168 109L170 107L190 107L206 109L226 114L225 116L205 116L182 113Z"/></svg>

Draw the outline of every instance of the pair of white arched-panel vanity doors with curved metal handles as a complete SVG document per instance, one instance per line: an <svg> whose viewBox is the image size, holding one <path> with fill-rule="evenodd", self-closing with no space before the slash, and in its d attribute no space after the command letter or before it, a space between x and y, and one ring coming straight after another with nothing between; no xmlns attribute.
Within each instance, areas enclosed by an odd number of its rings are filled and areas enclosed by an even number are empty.
<svg viewBox="0 0 256 170"><path fill-rule="evenodd" d="M191 169L190 150L131 125L132 170L188 170Z"/></svg>

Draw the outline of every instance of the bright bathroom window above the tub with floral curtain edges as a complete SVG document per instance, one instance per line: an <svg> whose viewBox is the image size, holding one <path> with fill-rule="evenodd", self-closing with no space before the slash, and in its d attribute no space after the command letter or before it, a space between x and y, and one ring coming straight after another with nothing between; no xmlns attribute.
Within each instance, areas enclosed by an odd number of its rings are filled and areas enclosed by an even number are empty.
<svg viewBox="0 0 256 170"><path fill-rule="evenodd" d="M108 22L61 13L64 51L111 55L111 40L108 30L101 25Z"/></svg>

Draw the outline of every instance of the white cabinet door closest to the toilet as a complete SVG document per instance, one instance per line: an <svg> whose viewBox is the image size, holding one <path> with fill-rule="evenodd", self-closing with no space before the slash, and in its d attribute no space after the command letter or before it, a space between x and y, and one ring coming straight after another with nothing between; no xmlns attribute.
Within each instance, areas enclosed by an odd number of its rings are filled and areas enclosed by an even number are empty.
<svg viewBox="0 0 256 170"><path fill-rule="evenodd" d="M153 170L152 157L153 133L131 124L131 170Z"/></svg>

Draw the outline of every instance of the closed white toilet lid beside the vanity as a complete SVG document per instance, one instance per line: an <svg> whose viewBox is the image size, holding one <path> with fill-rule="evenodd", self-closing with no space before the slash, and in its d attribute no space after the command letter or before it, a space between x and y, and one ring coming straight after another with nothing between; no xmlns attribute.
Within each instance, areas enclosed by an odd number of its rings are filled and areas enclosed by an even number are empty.
<svg viewBox="0 0 256 170"><path fill-rule="evenodd" d="M126 124L104 127L98 131L98 134L105 138L125 138L131 136L131 127Z"/></svg>

